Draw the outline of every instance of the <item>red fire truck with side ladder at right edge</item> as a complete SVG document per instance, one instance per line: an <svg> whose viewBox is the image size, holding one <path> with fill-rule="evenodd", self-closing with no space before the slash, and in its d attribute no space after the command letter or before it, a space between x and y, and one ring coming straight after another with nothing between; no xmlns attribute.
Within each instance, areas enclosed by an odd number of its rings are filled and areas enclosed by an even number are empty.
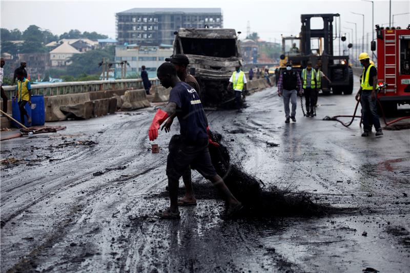
<svg viewBox="0 0 410 273"><path fill-rule="evenodd" d="M378 99L386 115L394 115L397 106L410 104L410 25L381 28L376 25L377 33L377 79L384 86ZM372 41L372 51L376 41Z"/></svg>

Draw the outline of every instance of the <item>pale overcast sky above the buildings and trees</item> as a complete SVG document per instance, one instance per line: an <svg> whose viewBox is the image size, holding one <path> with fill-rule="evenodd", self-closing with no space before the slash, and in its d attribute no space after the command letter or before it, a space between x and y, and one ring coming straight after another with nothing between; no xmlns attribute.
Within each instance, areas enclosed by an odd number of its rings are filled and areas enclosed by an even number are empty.
<svg viewBox="0 0 410 273"><path fill-rule="evenodd" d="M354 28L361 37L362 16L365 15L365 33L372 31L372 3L364 1L4 1L1 0L1 27L25 30L29 25L49 29L61 34L70 29L96 31L115 37L115 13L131 8L222 8L223 27L241 31L246 35L247 23L251 32L258 32L267 41L280 39L280 34L297 34L300 31L300 14L339 13L343 27ZM388 23L389 1L374 1L375 24ZM392 1L392 15L410 12L410 1ZM402 28L410 24L410 15L395 16L395 25ZM344 30L344 32L350 32ZM371 36L371 35L370 35ZM278 41L278 40L277 40Z"/></svg>

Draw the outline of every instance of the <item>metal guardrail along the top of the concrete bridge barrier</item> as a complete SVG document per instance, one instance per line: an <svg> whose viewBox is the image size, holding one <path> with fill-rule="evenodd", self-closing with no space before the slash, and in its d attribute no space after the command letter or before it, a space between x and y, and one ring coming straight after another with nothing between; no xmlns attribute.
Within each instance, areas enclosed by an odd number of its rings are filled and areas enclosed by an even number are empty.
<svg viewBox="0 0 410 273"><path fill-rule="evenodd" d="M159 85L159 80L157 78L151 78L150 81L152 85ZM9 98L15 95L16 86L4 86L3 89L6 91ZM142 79L66 81L31 85L32 95L44 96L121 89L144 89Z"/></svg>

